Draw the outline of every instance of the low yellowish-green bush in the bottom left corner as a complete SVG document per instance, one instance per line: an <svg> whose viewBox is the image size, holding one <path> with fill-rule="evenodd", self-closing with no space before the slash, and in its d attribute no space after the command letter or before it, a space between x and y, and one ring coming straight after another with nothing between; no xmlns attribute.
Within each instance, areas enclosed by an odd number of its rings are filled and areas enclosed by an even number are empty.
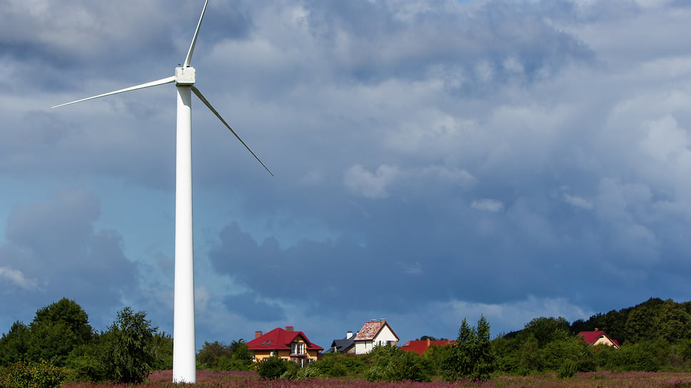
<svg viewBox="0 0 691 388"><path fill-rule="evenodd" d="M65 369L47 362L16 362L0 385L2 388L57 388L66 376Z"/></svg>

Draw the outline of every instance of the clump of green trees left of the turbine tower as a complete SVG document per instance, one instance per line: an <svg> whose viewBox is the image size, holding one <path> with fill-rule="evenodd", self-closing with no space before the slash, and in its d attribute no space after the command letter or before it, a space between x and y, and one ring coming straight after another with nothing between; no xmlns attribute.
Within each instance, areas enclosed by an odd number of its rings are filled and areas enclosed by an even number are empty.
<svg viewBox="0 0 691 388"><path fill-rule="evenodd" d="M125 307L96 332L86 312L63 298L36 311L29 325L14 322L0 339L0 367L52 370L41 366L47 364L71 379L142 382L152 370L172 367L172 339L156 330L144 312Z"/></svg>

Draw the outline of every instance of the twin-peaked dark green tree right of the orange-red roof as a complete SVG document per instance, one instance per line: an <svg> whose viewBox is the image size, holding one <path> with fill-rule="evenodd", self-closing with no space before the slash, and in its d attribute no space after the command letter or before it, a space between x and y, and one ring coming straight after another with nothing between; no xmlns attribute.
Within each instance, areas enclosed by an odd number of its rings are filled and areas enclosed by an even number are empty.
<svg viewBox="0 0 691 388"><path fill-rule="evenodd" d="M447 381L490 378L496 367L496 355L490 342L490 325L480 316L478 327L470 327L463 319L458 339L443 361L443 377Z"/></svg>

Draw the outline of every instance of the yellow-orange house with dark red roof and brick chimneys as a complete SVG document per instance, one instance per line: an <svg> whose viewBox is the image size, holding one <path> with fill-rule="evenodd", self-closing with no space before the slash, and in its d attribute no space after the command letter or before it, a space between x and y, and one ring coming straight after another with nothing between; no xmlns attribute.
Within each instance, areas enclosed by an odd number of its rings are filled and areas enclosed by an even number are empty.
<svg viewBox="0 0 691 388"><path fill-rule="evenodd" d="M254 332L254 339L247 342L247 347L256 362L278 356L296 362L301 367L315 361L319 352L324 349L312 343L305 333L296 332L292 326L286 326L286 329L276 327L266 334Z"/></svg>

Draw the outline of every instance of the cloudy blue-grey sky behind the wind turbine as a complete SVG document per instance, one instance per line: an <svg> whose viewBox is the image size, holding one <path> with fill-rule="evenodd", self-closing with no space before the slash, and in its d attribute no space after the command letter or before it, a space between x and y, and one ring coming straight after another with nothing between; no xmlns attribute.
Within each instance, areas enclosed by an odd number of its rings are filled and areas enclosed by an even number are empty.
<svg viewBox="0 0 691 388"><path fill-rule="evenodd" d="M173 332L172 84L203 1L0 0L0 332L67 297ZM196 344L407 342L690 300L691 4L211 0ZM623 339L618 339L623 340Z"/></svg>

